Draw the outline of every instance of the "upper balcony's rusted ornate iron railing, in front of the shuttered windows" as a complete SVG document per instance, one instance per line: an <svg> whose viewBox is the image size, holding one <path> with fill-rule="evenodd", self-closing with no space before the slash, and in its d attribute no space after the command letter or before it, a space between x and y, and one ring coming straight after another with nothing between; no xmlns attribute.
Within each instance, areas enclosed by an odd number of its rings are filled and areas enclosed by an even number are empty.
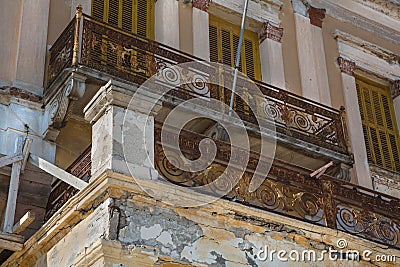
<svg viewBox="0 0 400 267"><path fill-rule="evenodd" d="M50 50L47 90L65 68L84 67L142 84L159 70L196 60L199 59L87 15L77 15ZM207 67L207 64L203 62L202 66ZM273 118L277 132L339 153L348 153L343 111L260 81L254 82L269 103L268 106L258 105L257 112ZM219 86L204 84L204 87L201 96L229 101L230 94L224 93L225 90ZM180 87L174 95L196 97L200 95L198 91ZM255 122L258 114L249 112L238 97L235 103L238 104L234 109L243 120Z"/></svg>

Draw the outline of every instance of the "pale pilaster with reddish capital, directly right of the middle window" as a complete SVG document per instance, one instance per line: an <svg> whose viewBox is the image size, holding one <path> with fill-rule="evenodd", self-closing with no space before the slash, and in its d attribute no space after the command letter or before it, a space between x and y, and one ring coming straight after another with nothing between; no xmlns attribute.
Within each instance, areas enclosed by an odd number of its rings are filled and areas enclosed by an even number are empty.
<svg viewBox="0 0 400 267"><path fill-rule="evenodd" d="M263 82L285 89L282 36L283 28L264 23L259 34L260 61Z"/></svg>

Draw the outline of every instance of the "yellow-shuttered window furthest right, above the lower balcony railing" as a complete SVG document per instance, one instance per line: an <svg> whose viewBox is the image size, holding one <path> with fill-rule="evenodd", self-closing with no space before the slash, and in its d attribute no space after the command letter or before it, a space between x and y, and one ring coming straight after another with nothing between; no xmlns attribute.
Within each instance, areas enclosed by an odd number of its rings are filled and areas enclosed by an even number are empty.
<svg viewBox="0 0 400 267"><path fill-rule="evenodd" d="M400 172L400 142L390 90L356 79L368 161Z"/></svg>

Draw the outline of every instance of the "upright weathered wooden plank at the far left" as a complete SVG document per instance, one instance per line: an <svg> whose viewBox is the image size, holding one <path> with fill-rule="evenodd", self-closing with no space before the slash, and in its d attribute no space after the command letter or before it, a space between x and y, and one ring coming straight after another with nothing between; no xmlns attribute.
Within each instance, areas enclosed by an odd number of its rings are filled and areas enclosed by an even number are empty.
<svg viewBox="0 0 400 267"><path fill-rule="evenodd" d="M23 137L15 140L15 153L22 154ZM14 226L15 209L17 208L17 196L19 186L19 175L21 172L21 161L14 162L11 167L10 186L8 190L6 214L4 216L3 231L11 233Z"/></svg>

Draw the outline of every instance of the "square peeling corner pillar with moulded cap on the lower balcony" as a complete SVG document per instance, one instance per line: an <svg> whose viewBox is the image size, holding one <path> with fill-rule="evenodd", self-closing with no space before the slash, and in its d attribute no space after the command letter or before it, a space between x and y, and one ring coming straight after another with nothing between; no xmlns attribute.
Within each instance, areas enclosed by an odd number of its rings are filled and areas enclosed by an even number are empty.
<svg viewBox="0 0 400 267"><path fill-rule="evenodd" d="M106 170L140 179L157 178L154 118L143 108L149 98L135 95L138 105L130 105L135 90L110 81L84 109L85 119L93 125L92 179Z"/></svg>

